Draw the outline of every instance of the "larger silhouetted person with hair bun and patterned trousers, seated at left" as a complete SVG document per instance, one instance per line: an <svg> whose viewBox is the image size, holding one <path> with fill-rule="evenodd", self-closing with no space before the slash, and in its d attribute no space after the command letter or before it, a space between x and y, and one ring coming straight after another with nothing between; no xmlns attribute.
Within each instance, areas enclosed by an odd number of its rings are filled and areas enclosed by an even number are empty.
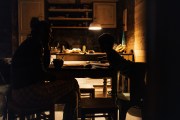
<svg viewBox="0 0 180 120"><path fill-rule="evenodd" d="M65 103L63 120L77 120L78 82L70 77L56 80L48 72L50 26L37 18L30 26L31 34L12 58L12 100L26 108Z"/></svg>

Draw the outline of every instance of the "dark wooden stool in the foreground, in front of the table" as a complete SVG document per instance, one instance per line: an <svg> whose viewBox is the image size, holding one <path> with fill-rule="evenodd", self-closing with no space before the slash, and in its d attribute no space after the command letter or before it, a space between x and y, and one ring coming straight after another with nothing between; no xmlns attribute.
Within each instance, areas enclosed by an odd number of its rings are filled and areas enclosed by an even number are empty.
<svg viewBox="0 0 180 120"><path fill-rule="evenodd" d="M85 118L106 117L117 120L118 107L112 98L85 98L80 103L81 120ZM99 115L102 114L102 115Z"/></svg>

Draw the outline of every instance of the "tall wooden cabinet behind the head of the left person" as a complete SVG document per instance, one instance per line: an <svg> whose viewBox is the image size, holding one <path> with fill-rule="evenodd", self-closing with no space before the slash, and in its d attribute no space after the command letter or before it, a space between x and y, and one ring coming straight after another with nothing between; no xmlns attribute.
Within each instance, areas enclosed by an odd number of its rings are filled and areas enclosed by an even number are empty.
<svg viewBox="0 0 180 120"><path fill-rule="evenodd" d="M30 20L32 17L44 19L44 0L18 0L18 32L19 44L30 33Z"/></svg>

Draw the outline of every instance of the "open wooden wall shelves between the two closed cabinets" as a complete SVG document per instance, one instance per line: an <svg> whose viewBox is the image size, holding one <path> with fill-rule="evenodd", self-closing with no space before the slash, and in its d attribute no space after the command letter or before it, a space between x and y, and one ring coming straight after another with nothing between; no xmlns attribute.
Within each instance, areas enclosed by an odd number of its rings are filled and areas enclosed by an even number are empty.
<svg viewBox="0 0 180 120"><path fill-rule="evenodd" d="M48 4L47 19L52 28L88 28L92 22L92 4Z"/></svg>

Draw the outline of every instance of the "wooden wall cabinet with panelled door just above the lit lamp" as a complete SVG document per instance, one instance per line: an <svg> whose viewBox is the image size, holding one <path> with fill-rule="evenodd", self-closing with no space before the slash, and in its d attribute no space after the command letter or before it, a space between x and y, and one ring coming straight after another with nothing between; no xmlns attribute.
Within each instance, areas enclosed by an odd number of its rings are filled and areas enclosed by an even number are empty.
<svg viewBox="0 0 180 120"><path fill-rule="evenodd" d="M93 21L100 23L103 28L116 28L116 3L94 2Z"/></svg>

